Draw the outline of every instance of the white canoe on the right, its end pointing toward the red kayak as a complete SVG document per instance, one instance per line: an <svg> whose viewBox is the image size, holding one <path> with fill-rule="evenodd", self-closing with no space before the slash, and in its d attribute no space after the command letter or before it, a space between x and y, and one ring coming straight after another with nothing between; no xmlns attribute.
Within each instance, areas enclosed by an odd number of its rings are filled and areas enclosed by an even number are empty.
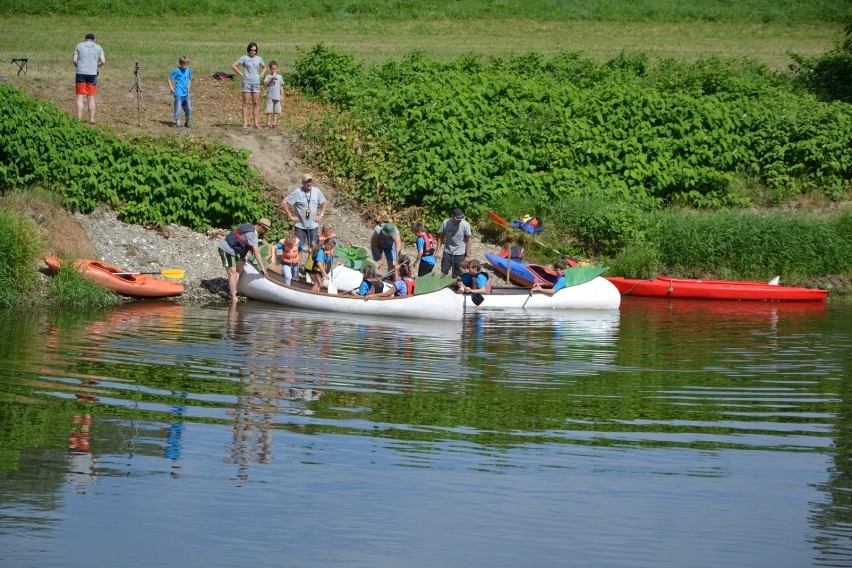
<svg viewBox="0 0 852 568"><path fill-rule="evenodd" d="M609 280L600 276L584 284L544 294L522 288L494 288L482 294L478 306L470 294L459 295L465 311L471 310L617 310L621 294Z"/></svg>

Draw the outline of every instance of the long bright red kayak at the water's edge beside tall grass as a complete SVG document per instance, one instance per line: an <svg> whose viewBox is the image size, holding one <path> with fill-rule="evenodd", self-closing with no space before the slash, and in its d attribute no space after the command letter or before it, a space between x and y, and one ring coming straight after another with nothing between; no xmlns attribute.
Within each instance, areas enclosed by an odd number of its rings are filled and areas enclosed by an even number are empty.
<svg viewBox="0 0 852 568"><path fill-rule="evenodd" d="M690 280L657 276L650 280L606 277L622 296L647 298L687 298L693 300L751 300L784 302L824 302L828 290L778 286L766 282L736 280Z"/></svg>

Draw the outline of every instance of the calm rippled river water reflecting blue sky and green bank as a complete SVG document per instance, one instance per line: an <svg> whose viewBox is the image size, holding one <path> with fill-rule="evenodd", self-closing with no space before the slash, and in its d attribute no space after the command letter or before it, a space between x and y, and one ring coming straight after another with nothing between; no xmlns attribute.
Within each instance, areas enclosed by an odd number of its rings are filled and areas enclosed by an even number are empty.
<svg viewBox="0 0 852 568"><path fill-rule="evenodd" d="M0 314L0 565L852 566L852 306Z"/></svg>

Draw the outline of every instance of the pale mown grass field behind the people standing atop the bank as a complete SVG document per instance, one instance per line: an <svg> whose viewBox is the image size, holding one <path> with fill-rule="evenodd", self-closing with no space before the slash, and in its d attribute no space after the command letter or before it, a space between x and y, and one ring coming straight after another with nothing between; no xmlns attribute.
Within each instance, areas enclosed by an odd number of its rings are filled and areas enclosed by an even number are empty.
<svg viewBox="0 0 852 568"><path fill-rule="evenodd" d="M807 23L739 24L726 22L541 22L495 20L318 20L245 19L235 16L101 17L8 16L0 19L0 60L29 58L29 80L57 88L72 86L71 52L87 32L97 35L106 52L102 80L132 84L134 63L144 77L162 80L185 54L197 76L227 71L245 54L250 41L268 62L292 68L298 49L318 43L351 52L364 62L383 61L418 49L439 59L461 53L501 55L538 51L577 51L606 60L620 51L644 51L652 57L694 60L711 55L749 56L784 70L789 51L814 55L830 49L842 27ZM15 78L9 63L0 75Z"/></svg>

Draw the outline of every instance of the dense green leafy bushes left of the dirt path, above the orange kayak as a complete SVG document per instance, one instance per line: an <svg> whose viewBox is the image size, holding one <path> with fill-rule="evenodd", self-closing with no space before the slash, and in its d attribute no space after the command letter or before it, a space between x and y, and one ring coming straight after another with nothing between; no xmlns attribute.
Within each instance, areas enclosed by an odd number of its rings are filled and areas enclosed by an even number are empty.
<svg viewBox="0 0 852 568"><path fill-rule="evenodd" d="M0 189L32 185L60 194L71 210L107 204L128 223L207 230L271 212L244 151L119 140L0 85Z"/></svg>

